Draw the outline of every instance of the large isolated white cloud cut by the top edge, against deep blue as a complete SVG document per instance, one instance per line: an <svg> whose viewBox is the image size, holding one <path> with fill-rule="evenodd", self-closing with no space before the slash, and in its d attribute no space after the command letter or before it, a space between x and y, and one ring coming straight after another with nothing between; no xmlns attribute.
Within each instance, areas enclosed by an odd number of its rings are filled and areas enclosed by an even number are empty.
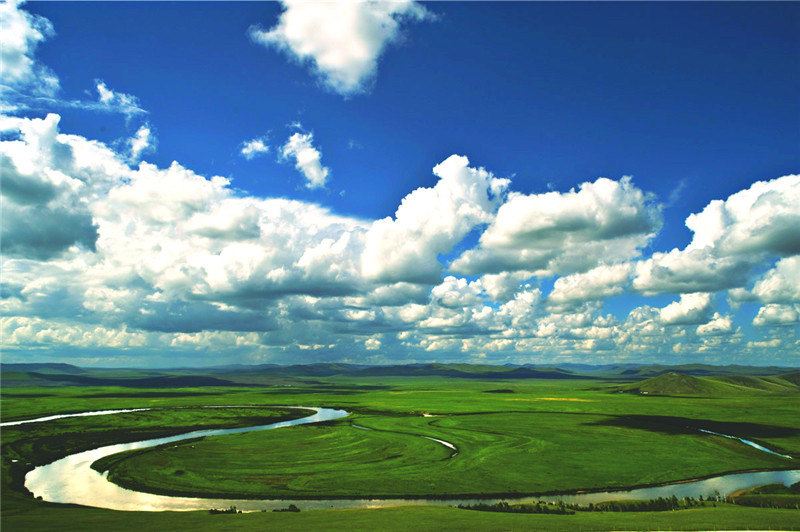
<svg viewBox="0 0 800 532"><path fill-rule="evenodd" d="M269 30L251 27L251 39L309 64L325 86L342 95L364 91L401 25L428 16L424 7L411 0L283 0L283 8L278 23Z"/></svg>

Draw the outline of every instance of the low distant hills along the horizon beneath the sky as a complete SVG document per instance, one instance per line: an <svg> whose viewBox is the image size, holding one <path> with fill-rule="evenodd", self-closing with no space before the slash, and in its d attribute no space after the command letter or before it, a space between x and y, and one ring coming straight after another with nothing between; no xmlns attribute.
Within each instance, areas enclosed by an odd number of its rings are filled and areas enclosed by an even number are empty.
<svg viewBox="0 0 800 532"><path fill-rule="evenodd" d="M359 364L319 363L281 366L225 365L211 368L135 369L135 368L81 368L65 363L0 364L3 386L130 386L137 388L268 385L284 380L323 377L450 377L460 379L598 379L607 381L639 381L664 375L665 377L644 387L632 388L637 393L675 393L673 388L691 392L699 386L702 377L725 378L729 385L750 386L758 382L747 379L781 376L781 382L800 380L800 373L784 367L712 366L685 364L667 366L657 364L612 364L592 366L587 364L544 365L486 365L486 364L404 364L368 366ZM739 379L738 381L736 379ZM695 379L695 380L692 380ZM744 380L742 380L744 379ZM795 379L794 381L792 379ZM762 379L763 380L763 379ZM737 384L738 382L738 384ZM745 382L749 384L744 384ZM762 383L763 384L763 383ZM633 385L631 385L633 386ZM702 387L702 386L701 386Z"/></svg>

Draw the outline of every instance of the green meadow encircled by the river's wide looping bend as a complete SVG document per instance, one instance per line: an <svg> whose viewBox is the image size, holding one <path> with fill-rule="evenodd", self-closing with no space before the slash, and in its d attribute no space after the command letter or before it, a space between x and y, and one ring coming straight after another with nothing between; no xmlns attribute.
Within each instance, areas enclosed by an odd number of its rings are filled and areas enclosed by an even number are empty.
<svg viewBox="0 0 800 532"><path fill-rule="evenodd" d="M208 497L511 496L792 465L725 438L621 428L602 424L606 419L357 416L355 423L375 430L340 422L205 438L136 451L114 464L109 478L154 493ZM421 436L449 441L459 453L451 459L447 448Z"/></svg>

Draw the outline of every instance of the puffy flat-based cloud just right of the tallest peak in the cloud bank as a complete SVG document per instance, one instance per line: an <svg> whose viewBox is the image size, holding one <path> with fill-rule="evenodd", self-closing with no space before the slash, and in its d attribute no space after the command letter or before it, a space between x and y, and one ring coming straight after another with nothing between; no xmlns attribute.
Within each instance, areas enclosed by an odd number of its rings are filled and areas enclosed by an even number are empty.
<svg viewBox="0 0 800 532"><path fill-rule="evenodd" d="M451 268L542 276L586 271L635 257L660 225L660 208L629 178L600 178L564 193L511 193L480 246L464 252Z"/></svg>

